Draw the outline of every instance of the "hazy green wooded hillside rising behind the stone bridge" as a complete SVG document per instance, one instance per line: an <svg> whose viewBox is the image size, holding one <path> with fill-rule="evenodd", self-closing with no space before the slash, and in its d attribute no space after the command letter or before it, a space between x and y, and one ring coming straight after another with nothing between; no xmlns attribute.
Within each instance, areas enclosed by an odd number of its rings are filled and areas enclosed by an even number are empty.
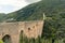
<svg viewBox="0 0 65 43"><path fill-rule="evenodd" d="M46 13L47 17L52 16L56 17L65 13L65 1L43 0L34 4L29 4L26 8L21 9L14 13L10 13L11 15L10 17L15 18L16 20L36 20L36 19L42 19L43 13Z"/></svg>

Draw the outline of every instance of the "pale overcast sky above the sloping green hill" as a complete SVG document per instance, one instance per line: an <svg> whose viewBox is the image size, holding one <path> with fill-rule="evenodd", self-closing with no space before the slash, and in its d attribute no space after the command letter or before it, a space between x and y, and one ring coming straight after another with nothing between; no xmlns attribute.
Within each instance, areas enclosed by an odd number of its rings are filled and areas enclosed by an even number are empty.
<svg viewBox="0 0 65 43"><path fill-rule="evenodd" d="M0 0L0 13L11 13L37 1L40 0Z"/></svg>

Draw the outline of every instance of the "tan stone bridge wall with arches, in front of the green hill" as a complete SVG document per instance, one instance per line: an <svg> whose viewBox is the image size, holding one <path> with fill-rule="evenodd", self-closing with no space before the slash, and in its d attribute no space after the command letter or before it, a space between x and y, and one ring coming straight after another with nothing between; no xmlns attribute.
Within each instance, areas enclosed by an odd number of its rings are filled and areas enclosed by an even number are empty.
<svg viewBox="0 0 65 43"><path fill-rule="evenodd" d="M20 42L23 32L27 38L38 38L42 33L43 20L0 23L0 39L10 38L11 43Z"/></svg>

